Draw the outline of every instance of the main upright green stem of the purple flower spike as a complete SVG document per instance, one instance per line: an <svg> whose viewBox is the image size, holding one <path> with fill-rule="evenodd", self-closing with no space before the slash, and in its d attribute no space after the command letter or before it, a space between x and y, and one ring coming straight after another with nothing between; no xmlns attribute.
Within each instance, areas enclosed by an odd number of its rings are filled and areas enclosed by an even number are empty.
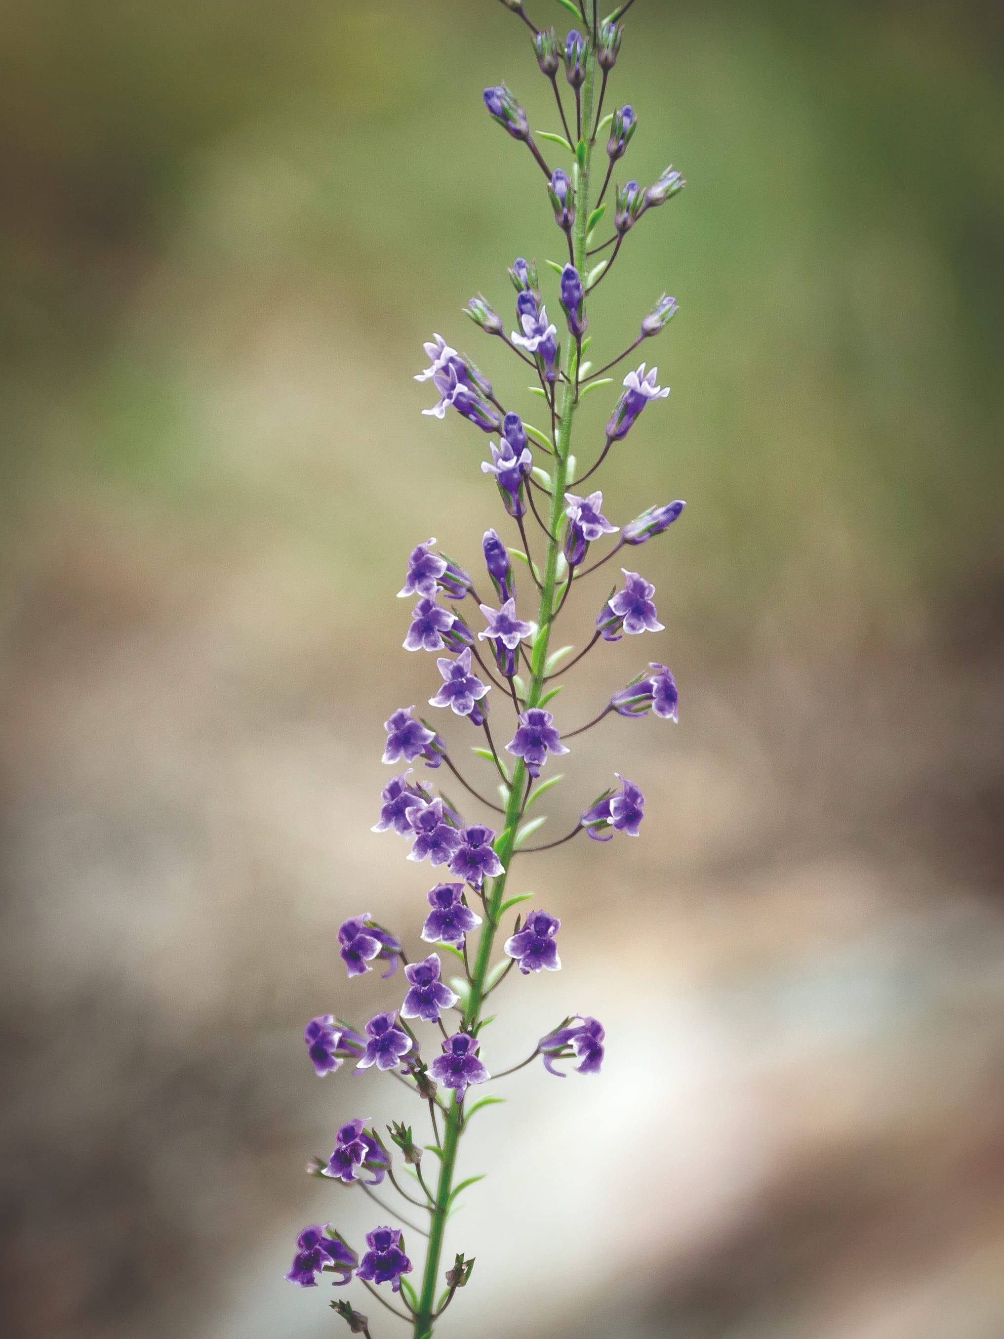
<svg viewBox="0 0 1004 1339"><path fill-rule="evenodd" d="M596 96L596 47L590 48L586 64L586 82L582 86L582 125L592 125L593 102ZM593 166L593 145L586 143L585 158L577 167L576 182L576 224L572 234L572 249L576 268L580 274L585 274L586 265L586 225L589 222L589 183ZM565 513L565 487L568 483L568 461L572 447L572 424L578 403L578 351L576 341L569 337L566 341L562 371L565 374L561 424L557 441L554 442L554 481L550 503L550 534L556 538L548 542L548 562L543 569L541 584L541 605L538 625L539 632L533 648L531 676L527 688L526 706L535 707L545 692L545 668L548 664L548 648L550 645L552 623L556 616L556 592L558 586L558 560L561 557L561 521ZM478 955L471 972L471 990L467 1008L465 1011L465 1026L477 1030L481 1022L481 1010L486 996L486 981L491 968L491 951L494 948L495 932L502 913L502 902L506 893L506 880L509 866L515 853L515 834L526 807L526 765L518 759L513 769L511 790L506 805L505 826L495 844L498 858L502 861L506 873L494 880L491 893L487 897L487 916L485 927L478 940ZM419 1308L415 1314L415 1339L427 1339L432 1334L432 1318L435 1314L436 1284L439 1280L439 1264L443 1251L443 1233L446 1231L447 1206L454 1182L454 1165L456 1162L456 1149L463 1133L463 1105L454 1099L446 1118L446 1134L443 1135L443 1156L439 1169L439 1186L436 1189L435 1205L432 1208L432 1223L430 1225L428 1252L426 1255L426 1269L422 1279L422 1295Z"/></svg>

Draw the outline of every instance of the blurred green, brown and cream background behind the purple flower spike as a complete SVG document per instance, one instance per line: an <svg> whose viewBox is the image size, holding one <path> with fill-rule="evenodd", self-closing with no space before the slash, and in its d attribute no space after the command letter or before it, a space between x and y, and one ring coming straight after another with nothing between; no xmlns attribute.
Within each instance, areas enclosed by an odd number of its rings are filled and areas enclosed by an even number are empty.
<svg viewBox="0 0 1004 1339"><path fill-rule="evenodd" d="M300 1040L396 1004L336 927L418 943L430 886L369 832L436 680L394 595L502 524L411 378L439 331L535 404L461 307L561 250L481 106L554 130L549 88L491 0L33 0L0 62L1 1328L320 1339L293 1237L375 1210L305 1160L408 1115ZM688 509L633 550L667 631L560 723L653 659L680 724L562 767L545 833L616 767L639 841L518 869L565 969L510 979L490 1063L576 1010L609 1060L478 1117L444 1339L1004 1332L1003 64L991 4L632 9L631 173L689 186L590 308L613 356L680 301L601 486Z"/></svg>

